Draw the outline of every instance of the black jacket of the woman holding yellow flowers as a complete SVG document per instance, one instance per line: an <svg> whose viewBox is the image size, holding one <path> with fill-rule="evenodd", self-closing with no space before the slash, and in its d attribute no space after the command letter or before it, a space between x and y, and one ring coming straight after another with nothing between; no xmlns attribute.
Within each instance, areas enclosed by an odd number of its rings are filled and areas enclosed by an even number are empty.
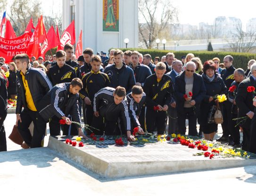
<svg viewBox="0 0 256 196"><path fill-rule="evenodd" d="M206 75L203 73L202 75L204 79L204 84L206 87L206 94L204 95L204 99L200 104L200 114L198 118L198 123L200 125L206 125L207 124L207 118L208 113L213 105L216 104L216 102L213 100L209 102L209 98L213 97L217 94L226 94L227 93L227 87L225 86L223 79L219 77L217 73L215 73L215 78L212 82L209 81L209 79L206 77Z"/></svg>

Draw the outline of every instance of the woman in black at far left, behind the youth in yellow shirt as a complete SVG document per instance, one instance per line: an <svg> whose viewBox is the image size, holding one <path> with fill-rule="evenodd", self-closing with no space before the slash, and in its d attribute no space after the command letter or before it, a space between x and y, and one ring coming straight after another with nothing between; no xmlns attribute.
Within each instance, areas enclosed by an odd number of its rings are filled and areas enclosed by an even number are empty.
<svg viewBox="0 0 256 196"><path fill-rule="evenodd" d="M11 62L9 63L10 70L9 70L9 77L8 77L8 99L15 99L17 96L17 87L16 87L16 78L17 78L17 67L16 64Z"/></svg>

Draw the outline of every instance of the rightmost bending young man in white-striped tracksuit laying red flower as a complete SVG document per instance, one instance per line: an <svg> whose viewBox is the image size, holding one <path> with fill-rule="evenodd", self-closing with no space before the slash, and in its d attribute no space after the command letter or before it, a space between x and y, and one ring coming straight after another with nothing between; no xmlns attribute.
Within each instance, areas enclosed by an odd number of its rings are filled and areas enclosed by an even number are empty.
<svg viewBox="0 0 256 196"><path fill-rule="evenodd" d="M141 128L142 125L140 125L139 116L142 106L146 101L146 94L143 92L141 86L133 86L132 93L127 94L126 99L128 102L128 109L131 118L131 128L133 130L135 127L138 127L138 133L143 134L143 129Z"/></svg>

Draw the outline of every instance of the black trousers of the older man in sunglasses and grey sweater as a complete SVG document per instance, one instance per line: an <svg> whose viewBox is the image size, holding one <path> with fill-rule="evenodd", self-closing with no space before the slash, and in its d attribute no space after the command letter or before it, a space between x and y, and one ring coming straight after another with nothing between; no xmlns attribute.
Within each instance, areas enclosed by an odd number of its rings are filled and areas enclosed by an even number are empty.
<svg viewBox="0 0 256 196"><path fill-rule="evenodd" d="M178 127L182 135L186 133L186 118L189 120L189 135L196 136L198 135L197 131L197 116L194 112L194 109L184 108L183 112L177 111L178 114Z"/></svg>

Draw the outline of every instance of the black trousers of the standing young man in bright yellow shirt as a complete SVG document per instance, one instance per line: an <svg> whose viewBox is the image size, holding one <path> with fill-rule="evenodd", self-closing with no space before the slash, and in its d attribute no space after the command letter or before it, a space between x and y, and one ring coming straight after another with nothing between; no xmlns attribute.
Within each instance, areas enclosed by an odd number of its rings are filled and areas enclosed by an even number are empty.
<svg viewBox="0 0 256 196"><path fill-rule="evenodd" d="M44 138L46 122L41 118L37 111L24 109L20 113L21 121L18 121L18 130L23 140L30 148L42 147L42 140ZM33 122L33 137L29 131L29 125Z"/></svg>

